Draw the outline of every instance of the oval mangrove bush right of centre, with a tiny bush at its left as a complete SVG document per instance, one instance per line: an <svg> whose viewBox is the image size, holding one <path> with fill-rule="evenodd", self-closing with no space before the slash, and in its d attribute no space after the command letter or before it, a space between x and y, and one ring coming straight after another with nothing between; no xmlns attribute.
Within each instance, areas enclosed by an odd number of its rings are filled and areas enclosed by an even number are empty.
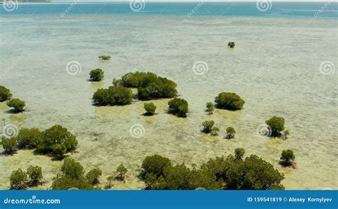
<svg viewBox="0 0 338 209"><path fill-rule="evenodd" d="M217 108L235 111L242 109L245 101L236 93L222 92L215 97L215 103Z"/></svg>

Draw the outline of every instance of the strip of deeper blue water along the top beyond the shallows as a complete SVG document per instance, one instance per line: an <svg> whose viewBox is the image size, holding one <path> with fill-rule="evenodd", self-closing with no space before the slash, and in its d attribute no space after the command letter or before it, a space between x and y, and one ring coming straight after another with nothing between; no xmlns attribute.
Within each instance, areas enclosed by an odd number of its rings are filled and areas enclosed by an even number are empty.
<svg viewBox="0 0 338 209"><path fill-rule="evenodd" d="M14 11L4 10L0 14L137 14L137 15L190 15L190 16L292 16L337 18L337 2L272 2L257 9L256 2L208 2L208 3L145 3L140 11L130 9L129 3L96 4L19 4ZM70 8L70 9L68 9Z"/></svg>

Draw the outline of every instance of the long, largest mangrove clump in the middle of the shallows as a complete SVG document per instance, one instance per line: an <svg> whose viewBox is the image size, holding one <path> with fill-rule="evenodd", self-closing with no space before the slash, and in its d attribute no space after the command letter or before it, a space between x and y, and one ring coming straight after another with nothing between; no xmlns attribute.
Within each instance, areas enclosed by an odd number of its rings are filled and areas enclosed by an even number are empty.
<svg viewBox="0 0 338 209"><path fill-rule="evenodd" d="M150 100L153 98L173 98L177 94L177 84L168 78L157 76L155 73L126 73L120 81L122 86L128 88L138 88L138 98Z"/></svg>

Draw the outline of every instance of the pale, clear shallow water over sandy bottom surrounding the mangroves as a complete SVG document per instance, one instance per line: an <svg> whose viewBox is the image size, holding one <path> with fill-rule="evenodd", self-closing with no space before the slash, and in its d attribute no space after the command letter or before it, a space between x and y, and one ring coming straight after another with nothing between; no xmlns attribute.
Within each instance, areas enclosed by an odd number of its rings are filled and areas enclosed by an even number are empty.
<svg viewBox="0 0 338 209"><path fill-rule="evenodd" d="M1 16L0 85L27 103L28 111L0 118L16 126L48 128L56 123L78 136L72 157L86 170L98 165L102 181L124 163L130 170L116 189L138 189L135 177L145 156L160 153L175 163L203 163L208 158L243 147L285 173L287 189L338 188L337 71L321 73L331 61L337 68L337 19L230 16L140 16L118 14L23 14ZM235 49L227 42L235 41ZM98 61L107 53L111 61ZM70 61L81 72L67 73ZM193 65L204 61L208 72L197 75ZM88 82L93 68L103 68L105 80ZM144 117L143 102L128 106L91 106L96 88L111 85L129 71L154 71L178 83L190 106L188 118L165 113L168 100L154 101L158 114ZM233 91L245 99L242 111L203 110L217 93ZM287 141L261 138L257 127L271 116L286 119ZM200 134L212 119L220 136ZM140 124L141 138L130 136ZM237 136L227 141L227 126ZM98 140L93 133L100 133ZM283 149L295 151L297 169L278 165ZM7 188L12 170L40 165L47 183L61 162L31 151L0 156L0 188Z"/></svg>

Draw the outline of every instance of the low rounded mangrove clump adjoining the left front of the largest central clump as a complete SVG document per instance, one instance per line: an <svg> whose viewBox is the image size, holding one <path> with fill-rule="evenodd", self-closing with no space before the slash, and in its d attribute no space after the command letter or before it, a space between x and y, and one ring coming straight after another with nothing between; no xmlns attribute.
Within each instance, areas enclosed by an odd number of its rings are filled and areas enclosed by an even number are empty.
<svg viewBox="0 0 338 209"><path fill-rule="evenodd" d="M93 94L94 103L99 106L127 105L133 101L133 93L123 86L110 86L108 89L98 89Z"/></svg>

